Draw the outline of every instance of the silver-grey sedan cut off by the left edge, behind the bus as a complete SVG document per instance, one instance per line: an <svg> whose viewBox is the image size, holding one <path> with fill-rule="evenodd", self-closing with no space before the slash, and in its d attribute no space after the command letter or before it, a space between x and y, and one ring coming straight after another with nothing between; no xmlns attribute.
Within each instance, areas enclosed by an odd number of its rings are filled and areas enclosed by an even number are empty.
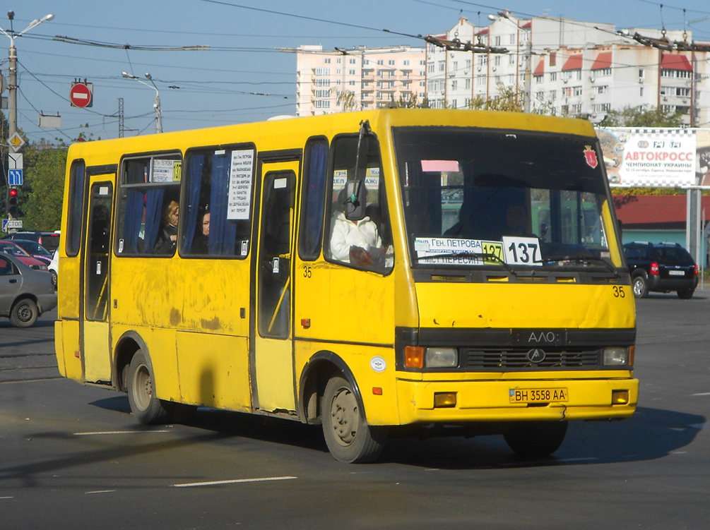
<svg viewBox="0 0 710 530"><path fill-rule="evenodd" d="M34 270L14 255L0 253L0 316L13 326L33 326L40 314L57 307L52 277Z"/></svg>

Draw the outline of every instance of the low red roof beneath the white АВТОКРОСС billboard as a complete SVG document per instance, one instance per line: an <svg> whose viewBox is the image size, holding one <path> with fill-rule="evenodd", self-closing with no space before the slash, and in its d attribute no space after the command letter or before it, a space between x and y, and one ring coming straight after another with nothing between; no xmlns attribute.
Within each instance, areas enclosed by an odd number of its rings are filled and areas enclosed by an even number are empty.
<svg viewBox="0 0 710 530"><path fill-rule="evenodd" d="M614 195L613 199L623 228L685 228L685 195ZM701 209L710 211L710 195L703 195L701 204Z"/></svg>

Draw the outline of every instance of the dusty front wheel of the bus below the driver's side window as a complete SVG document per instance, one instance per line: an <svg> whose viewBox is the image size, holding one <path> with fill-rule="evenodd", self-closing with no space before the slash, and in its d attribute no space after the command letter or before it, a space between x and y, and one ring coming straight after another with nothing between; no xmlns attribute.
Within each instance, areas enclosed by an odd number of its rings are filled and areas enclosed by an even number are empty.
<svg viewBox="0 0 710 530"><path fill-rule="evenodd" d="M339 375L325 386L322 407L323 436L332 456L340 462L372 462L381 455L387 431L367 424L350 383Z"/></svg>

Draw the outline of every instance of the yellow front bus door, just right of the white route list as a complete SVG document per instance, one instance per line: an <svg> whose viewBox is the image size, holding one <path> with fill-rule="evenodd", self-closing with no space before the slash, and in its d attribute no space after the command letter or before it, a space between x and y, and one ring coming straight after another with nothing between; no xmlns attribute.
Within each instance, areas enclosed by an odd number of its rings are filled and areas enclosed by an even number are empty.
<svg viewBox="0 0 710 530"><path fill-rule="evenodd" d="M252 400L254 408L269 412L295 410L291 301L297 171L298 162L263 163L261 171L258 248L252 269L256 277Z"/></svg>

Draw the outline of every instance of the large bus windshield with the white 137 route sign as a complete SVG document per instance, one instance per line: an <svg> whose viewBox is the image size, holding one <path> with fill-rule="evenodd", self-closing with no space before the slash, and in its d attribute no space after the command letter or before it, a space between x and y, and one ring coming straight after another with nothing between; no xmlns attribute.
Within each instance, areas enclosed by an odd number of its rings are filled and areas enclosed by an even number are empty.
<svg viewBox="0 0 710 530"><path fill-rule="evenodd" d="M441 127L393 138L413 266L621 266L596 141Z"/></svg>

